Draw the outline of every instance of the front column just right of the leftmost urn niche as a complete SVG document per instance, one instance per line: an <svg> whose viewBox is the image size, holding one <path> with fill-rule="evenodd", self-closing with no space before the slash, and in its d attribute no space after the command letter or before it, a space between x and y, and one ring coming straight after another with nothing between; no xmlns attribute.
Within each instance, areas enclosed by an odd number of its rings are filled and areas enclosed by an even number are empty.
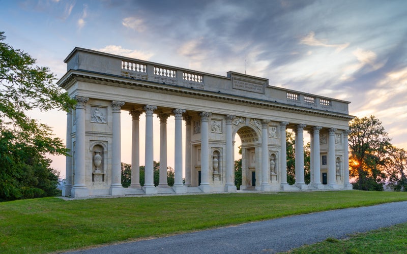
<svg viewBox="0 0 407 254"><path fill-rule="evenodd" d="M122 187L122 150L121 150L121 128L120 128L120 110L124 102L112 101L112 125L113 135L111 142L111 185L110 195L123 195Z"/></svg>

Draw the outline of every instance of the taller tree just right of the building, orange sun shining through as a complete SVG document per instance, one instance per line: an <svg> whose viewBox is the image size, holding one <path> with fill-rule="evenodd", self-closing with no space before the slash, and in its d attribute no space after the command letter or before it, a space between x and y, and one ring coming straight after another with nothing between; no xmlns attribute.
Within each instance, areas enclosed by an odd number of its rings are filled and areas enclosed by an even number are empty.
<svg viewBox="0 0 407 254"><path fill-rule="evenodd" d="M390 144L382 122L374 116L358 118L350 123L350 176L354 188L383 190L386 174L383 169Z"/></svg>

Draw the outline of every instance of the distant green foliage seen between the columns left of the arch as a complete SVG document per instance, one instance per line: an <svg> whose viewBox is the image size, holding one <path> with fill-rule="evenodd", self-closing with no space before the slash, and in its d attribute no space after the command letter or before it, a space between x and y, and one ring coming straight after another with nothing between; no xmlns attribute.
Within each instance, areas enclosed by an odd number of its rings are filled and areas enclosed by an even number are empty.
<svg viewBox="0 0 407 254"><path fill-rule="evenodd" d="M160 162L154 161L154 186L157 186L160 183ZM144 186L144 166L140 166L140 185ZM168 186L173 186L175 182L174 170L171 167L167 167L167 183ZM185 183L185 180L183 179ZM131 184L131 165L122 163L122 186L127 188Z"/></svg>

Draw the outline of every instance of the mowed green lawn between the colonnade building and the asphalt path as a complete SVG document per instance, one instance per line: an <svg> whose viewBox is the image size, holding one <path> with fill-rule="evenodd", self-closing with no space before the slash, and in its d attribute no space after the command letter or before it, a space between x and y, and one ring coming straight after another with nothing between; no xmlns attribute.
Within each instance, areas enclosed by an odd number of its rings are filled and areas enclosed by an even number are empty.
<svg viewBox="0 0 407 254"><path fill-rule="evenodd" d="M46 253L288 215L405 201L407 193L239 193L0 203L0 252Z"/></svg>

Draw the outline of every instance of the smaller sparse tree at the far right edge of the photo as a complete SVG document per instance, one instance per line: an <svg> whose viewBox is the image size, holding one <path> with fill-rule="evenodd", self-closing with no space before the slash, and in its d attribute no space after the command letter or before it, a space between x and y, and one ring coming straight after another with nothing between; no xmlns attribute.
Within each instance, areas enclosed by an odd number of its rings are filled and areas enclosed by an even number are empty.
<svg viewBox="0 0 407 254"><path fill-rule="evenodd" d="M407 192L407 151L397 147L388 149L385 171L389 186L396 191Z"/></svg>

